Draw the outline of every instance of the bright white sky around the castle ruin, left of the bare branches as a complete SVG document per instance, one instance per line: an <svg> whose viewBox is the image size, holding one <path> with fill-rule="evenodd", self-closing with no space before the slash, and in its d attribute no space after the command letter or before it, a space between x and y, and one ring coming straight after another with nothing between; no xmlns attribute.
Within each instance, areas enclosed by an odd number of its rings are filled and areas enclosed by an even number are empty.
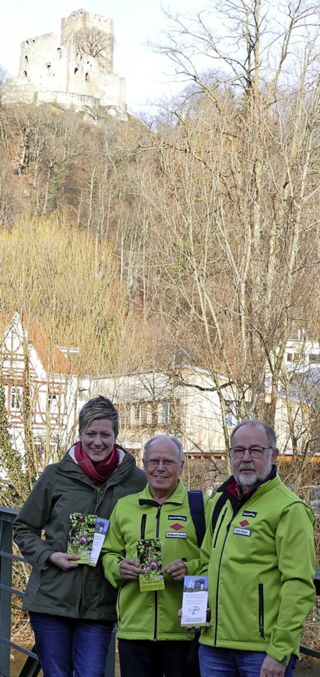
<svg viewBox="0 0 320 677"><path fill-rule="evenodd" d="M114 20L114 72L126 79L126 101L132 112L143 111L147 102L170 96L177 89L168 74L170 64L145 47L148 40L158 41L166 30L166 18L160 0L1 0L0 65L18 75L20 43L37 35L55 32L60 36L62 17L75 9L86 9ZM173 13L196 12L201 0L168 0L162 6ZM58 38L59 39L59 38Z"/></svg>

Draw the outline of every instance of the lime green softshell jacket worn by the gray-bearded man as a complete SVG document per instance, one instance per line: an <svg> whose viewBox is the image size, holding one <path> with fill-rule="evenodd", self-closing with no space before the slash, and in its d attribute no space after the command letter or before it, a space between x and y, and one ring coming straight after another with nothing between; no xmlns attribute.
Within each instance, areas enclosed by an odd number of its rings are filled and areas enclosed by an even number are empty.
<svg viewBox="0 0 320 677"><path fill-rule="evenodd" d="M315 600L313 512L278 475L240 507L229 496L214 533L208 529L202 544L211 626L202 630L200 642L266 651L286 664L292 653L298 654L304 620Z"/></svg>

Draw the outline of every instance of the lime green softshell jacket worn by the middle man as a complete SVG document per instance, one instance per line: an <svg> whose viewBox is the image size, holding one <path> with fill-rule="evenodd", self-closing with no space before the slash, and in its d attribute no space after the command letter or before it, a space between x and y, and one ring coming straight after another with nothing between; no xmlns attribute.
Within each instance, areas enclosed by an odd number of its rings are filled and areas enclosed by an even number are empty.
<svg viewBox="0 0 320 677"><path fill-rule="evenodd" d="M204 496L206 522L210 521L212 499ZM144 518L143 515L146 517ZM179 480L168 501L159 505L145 487L141 494L118 501L103 546L102 563L108 581L120 588L118 594L118 637L139 640L191 640L192 633L181 628L183 582L164 574L164 590L140 592L138 580L124 581L120 563L125 557L137 559L137 540L160 538L162 565L184 559L188 573L200 569L200 551L191 519L187 489Z"/></svg>

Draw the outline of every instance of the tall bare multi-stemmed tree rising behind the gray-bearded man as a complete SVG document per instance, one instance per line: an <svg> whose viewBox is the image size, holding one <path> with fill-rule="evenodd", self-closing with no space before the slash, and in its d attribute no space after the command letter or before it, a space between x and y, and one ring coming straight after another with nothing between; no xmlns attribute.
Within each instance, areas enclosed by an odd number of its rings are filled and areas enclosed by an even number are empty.
<svg viewBox="0 0 320 677"><path fill-rule="evenodd" d="M217 384L227 374L238 416L274 423L285 345L315 293L306 271L319 268L320 89L316 8L290 3L272 28L270 8L227 2L193 21L171 17L161 51L193 87L154 135L158 179L145 173L141 183L157 223L168 324L193 331Z"/></svg>

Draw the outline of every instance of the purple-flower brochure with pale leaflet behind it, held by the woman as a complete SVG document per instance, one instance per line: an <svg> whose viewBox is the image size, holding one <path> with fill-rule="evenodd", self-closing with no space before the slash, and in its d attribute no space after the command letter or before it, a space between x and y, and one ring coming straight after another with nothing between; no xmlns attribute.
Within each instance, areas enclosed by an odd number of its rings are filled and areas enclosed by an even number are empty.
<svg viewBox="0 0 320 677"><path fill-rule="evenodd" d="M81 515L81 512L73 512L70 515L67 552L80 556L80 559L77 560L78 564L89 564L91 567L95 567L108 526L108 519L102 519L97 515Z"/></svg>

